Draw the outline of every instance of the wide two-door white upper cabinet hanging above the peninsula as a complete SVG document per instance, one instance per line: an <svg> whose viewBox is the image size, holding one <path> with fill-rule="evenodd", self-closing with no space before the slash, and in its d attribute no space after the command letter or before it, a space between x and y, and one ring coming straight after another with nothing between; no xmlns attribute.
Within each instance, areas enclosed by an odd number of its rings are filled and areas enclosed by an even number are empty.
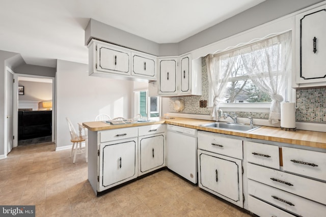
<svg viewBox="0 0 326 217"><path fill-rule="evenodd" d="M88 48L89 75L126 80L156 80L156 56L94 39Z"/></svg>

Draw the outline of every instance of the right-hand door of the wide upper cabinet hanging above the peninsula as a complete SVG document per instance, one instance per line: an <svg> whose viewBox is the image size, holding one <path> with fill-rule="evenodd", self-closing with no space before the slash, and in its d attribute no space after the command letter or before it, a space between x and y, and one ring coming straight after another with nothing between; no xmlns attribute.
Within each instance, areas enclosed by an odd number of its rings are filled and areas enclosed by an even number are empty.
<svg viewBox="0 0 326 217"><path fill-rule="evenodd" d="M131 75L156 80L156 58L140 53L132 53Z"/></svg>

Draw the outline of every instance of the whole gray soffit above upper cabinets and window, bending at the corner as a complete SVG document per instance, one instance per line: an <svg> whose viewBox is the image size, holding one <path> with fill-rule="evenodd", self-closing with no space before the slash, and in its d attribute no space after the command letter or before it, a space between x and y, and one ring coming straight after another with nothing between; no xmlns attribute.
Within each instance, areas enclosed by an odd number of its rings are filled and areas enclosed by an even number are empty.
<svg viewBox="0 0 326 217"><path fill-rule="evenodd" d="M192 37L172 44L157 44L91 19L85 30L85 44L88 44L91 38L95 38L156 56L180 55L322 1L266 0Z"/></svg>

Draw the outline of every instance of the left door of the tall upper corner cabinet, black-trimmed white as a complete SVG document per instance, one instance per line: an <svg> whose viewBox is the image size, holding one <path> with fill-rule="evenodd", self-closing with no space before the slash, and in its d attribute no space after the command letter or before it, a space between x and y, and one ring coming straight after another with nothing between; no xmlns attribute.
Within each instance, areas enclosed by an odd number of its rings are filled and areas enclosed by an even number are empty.
<svg viewBox="0 0 326 217"><path fill-rule="evenodd" d="M159 94L177 94L177 59L159 59Z"/></svg>

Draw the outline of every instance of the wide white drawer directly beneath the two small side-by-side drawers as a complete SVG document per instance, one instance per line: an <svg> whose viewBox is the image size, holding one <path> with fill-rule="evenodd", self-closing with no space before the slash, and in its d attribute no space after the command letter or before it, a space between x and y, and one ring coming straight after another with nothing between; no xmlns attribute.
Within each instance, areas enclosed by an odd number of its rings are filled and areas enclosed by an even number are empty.
<svg viewBox="0 0 326 217"><path fill-rule="evenodd" d="M250 179L326 204L326 183L247 163Z"/></svg>

